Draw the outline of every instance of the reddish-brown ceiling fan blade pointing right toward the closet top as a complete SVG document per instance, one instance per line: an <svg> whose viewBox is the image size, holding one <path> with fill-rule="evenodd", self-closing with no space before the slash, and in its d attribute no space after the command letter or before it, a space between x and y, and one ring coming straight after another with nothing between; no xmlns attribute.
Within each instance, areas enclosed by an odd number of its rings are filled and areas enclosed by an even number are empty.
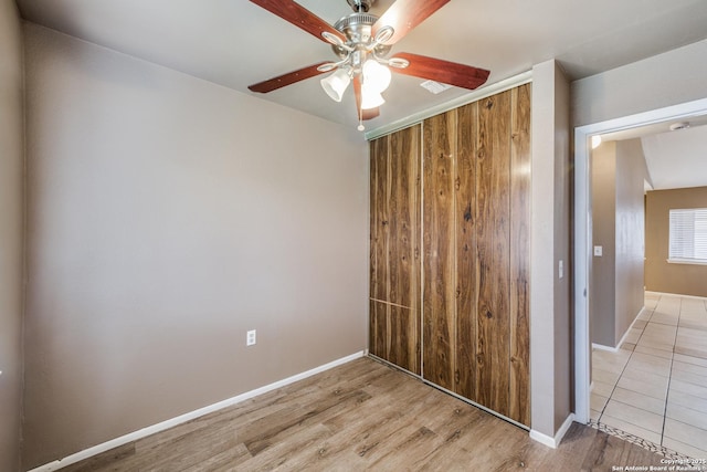
<svg viewBox="0 0 707 472"><path fill-rule="evenodd" d="M472 67L471 65L407 52L395 54L393 57L410 61L410 65L404 69L390 67L392 72L421 78L431 78L443 84L468 90L474 90L482 85L486 82L490 73L485 69Z"/></svg>

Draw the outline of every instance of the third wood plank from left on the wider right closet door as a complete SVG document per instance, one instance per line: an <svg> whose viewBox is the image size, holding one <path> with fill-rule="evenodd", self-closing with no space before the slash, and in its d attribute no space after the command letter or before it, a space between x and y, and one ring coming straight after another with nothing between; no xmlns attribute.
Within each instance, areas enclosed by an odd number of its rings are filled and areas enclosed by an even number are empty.
<svg viewBox="0 0 707 472"><path fill-rule="evenodd" d="M478 115L476 398L508 416L510 93L482 99Z"/></svg>

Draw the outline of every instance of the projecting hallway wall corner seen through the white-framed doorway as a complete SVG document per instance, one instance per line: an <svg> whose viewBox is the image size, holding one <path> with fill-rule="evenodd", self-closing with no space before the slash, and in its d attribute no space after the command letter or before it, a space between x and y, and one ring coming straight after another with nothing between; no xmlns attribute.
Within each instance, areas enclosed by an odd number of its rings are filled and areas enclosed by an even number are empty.
<svg viewBox="0 0 707 472"><path fill-rule="evenodd" d="M616 347L643 308L644 182L640 139L592 151L592 343Z"/></svg>

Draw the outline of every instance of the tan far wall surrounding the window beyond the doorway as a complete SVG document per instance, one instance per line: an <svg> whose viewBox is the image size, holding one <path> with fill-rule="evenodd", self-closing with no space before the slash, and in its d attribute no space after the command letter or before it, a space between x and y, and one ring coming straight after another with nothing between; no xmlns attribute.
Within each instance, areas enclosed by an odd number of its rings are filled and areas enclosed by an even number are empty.
<svg viewBox="0 0 707 472"><path fill-rule="evenodd" d="M650 291L707 296L707 265L669 264L669 210L707 208L707 187L646 195L645 285Z"/></svg>

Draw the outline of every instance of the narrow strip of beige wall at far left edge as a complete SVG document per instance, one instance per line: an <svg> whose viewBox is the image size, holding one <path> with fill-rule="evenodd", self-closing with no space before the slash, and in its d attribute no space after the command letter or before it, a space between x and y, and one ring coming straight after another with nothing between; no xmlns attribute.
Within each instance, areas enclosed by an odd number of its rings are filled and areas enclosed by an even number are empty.
<svg viewBox="0 0 707 472"><path fill-rule="evenodd" d="M23 264L22 32L12 0L0 1L0 470L19 466L22 407Z"/></svg>

